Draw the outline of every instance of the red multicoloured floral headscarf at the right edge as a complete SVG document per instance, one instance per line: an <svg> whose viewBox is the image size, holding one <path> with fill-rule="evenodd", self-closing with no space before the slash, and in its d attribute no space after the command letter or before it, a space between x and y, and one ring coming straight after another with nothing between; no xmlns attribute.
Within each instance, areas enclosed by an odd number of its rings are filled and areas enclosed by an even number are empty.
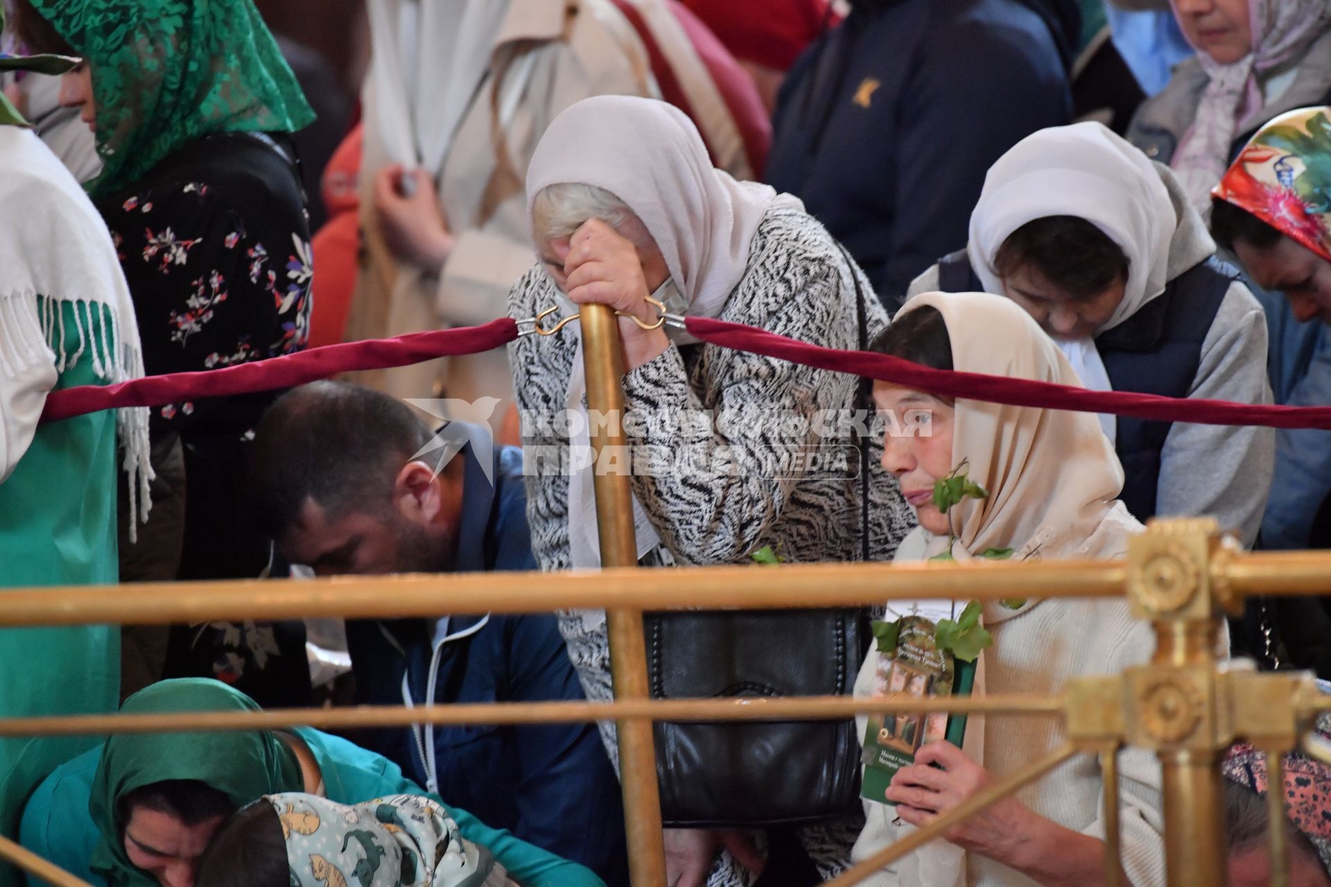
<svg viewBox="0 0 1331 887"><path fill-rule="evenodd" d="M1300 108L1263 126L1211 197L1331 262L1331 108Z"/></svg>

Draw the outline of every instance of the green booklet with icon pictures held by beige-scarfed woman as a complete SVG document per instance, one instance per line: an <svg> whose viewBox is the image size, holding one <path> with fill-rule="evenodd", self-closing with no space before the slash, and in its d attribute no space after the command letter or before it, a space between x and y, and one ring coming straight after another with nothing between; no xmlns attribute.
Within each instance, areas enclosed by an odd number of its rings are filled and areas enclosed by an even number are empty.
<svg viewBox="0 0 1331 887"><path fill-rule="evenodd" d="M877 653L874 698L897 693L916 697L970 696L976 664L940 650L934 640L938 620L954 620L958 610L960 604L954 601L914 601L902 608L896 624L894 648ZM892 616L889 613L886 618ZM965 733L965 714L870 714L864 735L861 797L890 805L884 793L892 777L901 767L914 763L921 746L946 739L961 747Z"/></svg>

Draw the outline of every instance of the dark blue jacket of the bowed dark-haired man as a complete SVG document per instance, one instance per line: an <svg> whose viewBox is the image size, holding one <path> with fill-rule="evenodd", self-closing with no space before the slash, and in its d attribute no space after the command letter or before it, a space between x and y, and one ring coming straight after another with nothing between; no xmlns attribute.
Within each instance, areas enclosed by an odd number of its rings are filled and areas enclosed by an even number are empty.
<svg viewBox="0 0 1331 887"><path fill-rule="evenodd" d="M495 448L492 484L471 444L458 457L466 469L455 570L535 570L522 451ZM443 625L441 636L434 621L347 622L358 702L401 705L406 696L423 705L431 685L441 705L586 698L552 614L451 614ZM628 884L619 779L595 723L383 729L357 738L487 826L579 862L611 887Z"/></svg>

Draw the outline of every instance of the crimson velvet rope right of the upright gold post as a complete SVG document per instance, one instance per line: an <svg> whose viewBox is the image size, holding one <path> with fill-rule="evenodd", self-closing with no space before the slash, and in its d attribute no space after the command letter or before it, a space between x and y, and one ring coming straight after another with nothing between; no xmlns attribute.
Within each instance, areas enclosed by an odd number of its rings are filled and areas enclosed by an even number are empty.
<svg viewBox="0 0 1331 887"><path fill-rule="evenodd" d="M1009 379L980 372L932 370L917 363L866 351L840 351L788 339L765 330L708 318L687 318L688 331L703 342L736 351L803 363L820 370L894 382L950 398L1006 403L1016 407L1113 412L1119 416L1193 422L1209 426L1266 426L1270 428L1331 430L1331 407L1280 407L1166 398L1129 391L1087 391L1074 386Z"/></svg>

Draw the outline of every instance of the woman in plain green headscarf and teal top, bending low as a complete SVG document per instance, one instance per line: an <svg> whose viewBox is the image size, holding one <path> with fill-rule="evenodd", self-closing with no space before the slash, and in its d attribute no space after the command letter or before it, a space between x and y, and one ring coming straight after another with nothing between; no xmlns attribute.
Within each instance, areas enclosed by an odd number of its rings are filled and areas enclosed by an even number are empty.
<svg viewBox="0 0 1331 887"><path fill-rule="evenodd" d="M124 714L257 710L244 693L198 678L154 684L121 707ZM126 733L64 765L37 789L23 814L20 842L93 884L192 887L198 859L226 817L285 791L342 805L426 795L387 758L309 727ZM582 866L466 811L450 807L450 814L467 840L488 847L522 884L602 884Z"/></svg>

